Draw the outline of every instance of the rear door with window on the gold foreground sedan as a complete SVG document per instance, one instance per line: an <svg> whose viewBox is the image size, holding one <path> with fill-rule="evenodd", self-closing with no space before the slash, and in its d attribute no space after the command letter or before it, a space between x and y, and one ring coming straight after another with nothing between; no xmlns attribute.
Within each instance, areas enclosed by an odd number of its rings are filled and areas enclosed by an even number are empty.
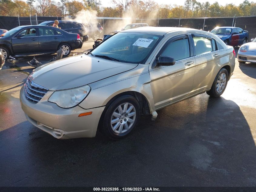
<svg viewBox="0 0 256 192"><path fill-rule="evenodd" d="M192 91L193 93L199 93L211 88L213 80L223 62L225 50L218 48L217 41L207 35L192 33L192 40L196 59Z"/></svg>

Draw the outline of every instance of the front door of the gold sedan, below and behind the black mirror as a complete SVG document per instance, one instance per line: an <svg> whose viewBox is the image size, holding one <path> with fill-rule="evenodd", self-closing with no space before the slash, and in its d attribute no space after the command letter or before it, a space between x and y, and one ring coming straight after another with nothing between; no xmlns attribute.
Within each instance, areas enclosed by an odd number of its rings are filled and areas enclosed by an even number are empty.
<svg viewBox="0 0 256 192"><path fill-rule="evenodd" d="M169 56L175 59L173 66L150 66L151 89L155 108L160 109L191 95L194 81L195 59L188 35L172 37L156 56Z"/></svg>

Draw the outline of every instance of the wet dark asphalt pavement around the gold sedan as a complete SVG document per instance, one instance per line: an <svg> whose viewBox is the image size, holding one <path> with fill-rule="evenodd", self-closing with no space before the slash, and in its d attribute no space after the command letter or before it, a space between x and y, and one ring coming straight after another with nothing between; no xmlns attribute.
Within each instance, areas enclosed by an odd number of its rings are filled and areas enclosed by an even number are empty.
<svg viewBox="0 0 256 192"><path fill-rule="evenodd" d="M159 110L155 121L143 116L122 140L58 140L20 107L32 58L0 70L0 186L256 186L256 64L236 60L220 98L203 93Z"/></svg>

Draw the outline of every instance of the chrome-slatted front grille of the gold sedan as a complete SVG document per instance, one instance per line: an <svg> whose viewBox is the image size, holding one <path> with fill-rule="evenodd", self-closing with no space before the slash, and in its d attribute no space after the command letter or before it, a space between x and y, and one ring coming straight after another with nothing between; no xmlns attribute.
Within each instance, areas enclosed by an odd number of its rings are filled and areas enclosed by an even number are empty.
<svg viewBox="0 0 256 192"><path fill-rule="evenodd" d="M33 83L29 78L27 79L24 92L28 101L38 103L47 91L48 89L45 87Z"/></svg>

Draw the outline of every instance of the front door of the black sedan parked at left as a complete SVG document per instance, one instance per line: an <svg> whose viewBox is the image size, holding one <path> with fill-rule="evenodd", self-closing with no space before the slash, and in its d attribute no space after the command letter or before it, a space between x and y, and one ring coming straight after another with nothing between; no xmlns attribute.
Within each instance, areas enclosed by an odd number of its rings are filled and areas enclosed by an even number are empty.
<svg viewBox="0 0 256 192"><path fill-rule="evenodd" d="M37 28L26 28L12 38L12 48L15 55L39 51L37 30Z"/></svg>

